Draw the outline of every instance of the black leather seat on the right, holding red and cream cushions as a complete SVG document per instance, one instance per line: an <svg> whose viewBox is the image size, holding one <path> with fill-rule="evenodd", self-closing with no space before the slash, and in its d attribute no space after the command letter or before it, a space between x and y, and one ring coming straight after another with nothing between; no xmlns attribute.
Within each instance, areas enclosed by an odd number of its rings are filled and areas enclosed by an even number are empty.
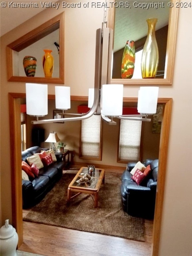
<svg viewBox="0 0 192 256"><path fill-rule="evenodd" d="M123 210L129 215L146 219L152 219L154 217L158 159L147 159L144 162L145 167L149 164L151 171L140 185L132 179L133 175L130 173L136 163L128 163L121 178Z"/></svg>

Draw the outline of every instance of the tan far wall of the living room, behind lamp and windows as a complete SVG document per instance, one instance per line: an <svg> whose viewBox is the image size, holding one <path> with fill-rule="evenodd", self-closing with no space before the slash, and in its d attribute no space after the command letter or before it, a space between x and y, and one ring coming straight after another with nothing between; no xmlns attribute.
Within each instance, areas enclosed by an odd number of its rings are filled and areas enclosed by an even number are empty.
<svg viewBox="0 0 192 256"><path fill-rule="evenodd" d="M86 105L86 101L72 101L71 109L67 112L69 113L77 113L77 106L84 104ZM129 106L131 106L129 104ZM135 107L134 105L132 107ZM53 109L55 109L55 101L48 101L48 115L47 118L52 118ZM152 118L152 116L151 116ZM80 129L81 129L81 121L75 122L65 122L62 123L50 123L45 125L32 125L31 120L34 120L34 117L27 116L27 148L33 146L31 133L33 128L43 128L45 129L45 140L47 139L50 132L57 132L58 137L61 141L67 143L66 149L69 149L72 153L74 153L73 162L78 163L92 163L95 166L99 165L110 165L110 166L121 166L126 167L126 164L117 163L117 145L118 145L118 134L119 134L119 125L120 122L117 119L116 126L110 126L103 122L102 129L102 160L101 161L93 161L86 159L79 159L79 146L80 146ZM158 158L159 153L159 141L160 134L152 133L152 122L144 122L143 123L143 143L141 147L141 160L145 160L146 158L156 159ZM57 144L55 144L56 146ZM41 147L50 147L51 143L42 142Z"/></svg>

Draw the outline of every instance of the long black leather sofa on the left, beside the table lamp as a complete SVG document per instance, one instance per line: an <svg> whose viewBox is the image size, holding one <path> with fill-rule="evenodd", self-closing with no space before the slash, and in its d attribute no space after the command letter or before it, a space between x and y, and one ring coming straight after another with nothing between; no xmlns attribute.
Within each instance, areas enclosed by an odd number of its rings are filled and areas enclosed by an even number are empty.
<svg viewBox="0 0 192 256"><path fill-rule="evenodd" d="M47 151L48 149L34 146L22 151L22 161L27 162L28 157L35 153L40 153L41 150ZM22 179L23 209L30 208L39 203L62 177L62 170L64 168L62 153L55 153L55 156L57 161L41 168L38 177L35 177L35 179L30 178L30 180Z"/></svg>

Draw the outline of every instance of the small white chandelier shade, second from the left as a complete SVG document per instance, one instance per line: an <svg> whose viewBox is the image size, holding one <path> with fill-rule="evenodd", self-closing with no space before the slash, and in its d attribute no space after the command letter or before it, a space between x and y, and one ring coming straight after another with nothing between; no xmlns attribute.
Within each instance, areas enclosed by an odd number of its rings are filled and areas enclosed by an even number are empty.
<svg viewBox="0 0 192 256"><path fill-rule="evenodd" d="M57 109L71 108L70 87L55 86L55 107Z"/></svg>

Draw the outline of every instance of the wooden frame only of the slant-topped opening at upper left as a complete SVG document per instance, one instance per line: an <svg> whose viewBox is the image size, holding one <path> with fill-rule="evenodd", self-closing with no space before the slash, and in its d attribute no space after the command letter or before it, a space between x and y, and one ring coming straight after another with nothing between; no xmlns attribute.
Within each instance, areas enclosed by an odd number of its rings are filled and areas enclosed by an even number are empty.
<svg viewBox="0 0 192 256"><path fill-rule="evenodd" d="M59 29L59 77L27 77L13 75L13 51L21 51ZM12 82L64 83L64 12L53 17L6 47L7 80ZM43 56L43 55L42 55Z"/></svg>

